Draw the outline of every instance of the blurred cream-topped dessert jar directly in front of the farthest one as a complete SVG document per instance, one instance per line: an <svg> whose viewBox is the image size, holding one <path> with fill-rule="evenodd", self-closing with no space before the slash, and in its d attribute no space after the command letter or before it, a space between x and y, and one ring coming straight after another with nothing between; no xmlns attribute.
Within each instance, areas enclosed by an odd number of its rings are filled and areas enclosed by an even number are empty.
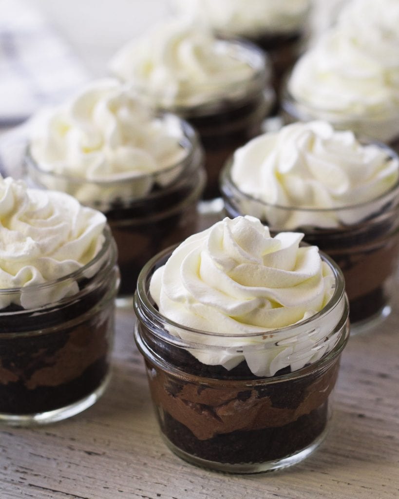
<svg viewBox="0 0 399 499"><path fill-rule="evenodd" d="M217 39L186 19L157 24L122 47L111 71L157 110L198 131L205 150L204 196L218 196L218 174L231 152L261 131L274 93L263 52L249 42Z"/></svg>

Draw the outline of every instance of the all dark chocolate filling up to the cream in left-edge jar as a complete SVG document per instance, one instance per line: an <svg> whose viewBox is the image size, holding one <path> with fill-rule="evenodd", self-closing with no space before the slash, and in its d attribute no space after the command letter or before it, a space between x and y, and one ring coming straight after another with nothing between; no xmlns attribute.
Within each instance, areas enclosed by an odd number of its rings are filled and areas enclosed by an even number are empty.
<svg viewBox="0 0 399 499"><path fill-rule="evenodd" d="M17 305L0 311L1 413L63 408L102 385L113 327L105 294L104 288L89 291L81 301L49 308L42 316ZM102 317L94 312L99 302Z"/></svg>

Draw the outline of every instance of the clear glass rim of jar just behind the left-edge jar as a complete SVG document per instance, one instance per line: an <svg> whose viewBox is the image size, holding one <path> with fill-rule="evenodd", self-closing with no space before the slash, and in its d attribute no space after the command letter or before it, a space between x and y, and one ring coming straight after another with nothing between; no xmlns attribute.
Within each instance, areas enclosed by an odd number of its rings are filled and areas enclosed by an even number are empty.
<svg viewBox="0 0 399 499"><path fill-rule="evenodd" d="M158 176L162 175L168 175L169 173L173 172L174 170L179 170L186 162L189 162L193 156L196 154L196 151L198 151L201 146L200 146L200 139L198 137L197 131L188 123L185 119L180 118L174 113L170 112L158 112L154 113L154 117L161 117L163 119L166 119L168 117L172 117L173 119L177 120L180 122L183 130L183 139L185 139L185 142L187 145L190 147L188 148L187 154L179 160L177 163L174 163L171 166L168 166L167 168L164 168L162 170L157 170L155 172L151 173L143 173L139 175L125 175L123 177L118 177L118 179L112 179L110 177L109 179L87 179L85 177L74 177L70 175L65 175L62 173L55 173L51 170L44 170L43 168L40 167L40 162L37 161L32 154L32 144L28 143L26 146L25 150L25 161L28 162L29 166L33 167L35 170L37 170L39 173L51 176L55 179L58 180L63 180L67 182L71 182L73 184L79 184L81 185L82 183L84 184L94 184L97 186L106 186L106 187L112 187L112 186L117 186L119 184L125 184L126 182L140 182L143 180L147 179L156 179ZM186 144L184 144L186 146ZM186 148L185 148L186 149Z"/></svg>

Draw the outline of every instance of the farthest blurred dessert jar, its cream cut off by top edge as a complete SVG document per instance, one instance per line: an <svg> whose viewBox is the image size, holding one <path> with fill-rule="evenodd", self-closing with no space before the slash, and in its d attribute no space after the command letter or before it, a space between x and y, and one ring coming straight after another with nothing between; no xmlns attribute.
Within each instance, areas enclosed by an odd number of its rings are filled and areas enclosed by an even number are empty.
<svg viewBox="0 0 399 499"><path fill-rule="evenodd" d="M281 77L298 57L310 0L171 0L175 9L210 26L223 37L243 37L260 46L273 66L278 92Z"/></svg>

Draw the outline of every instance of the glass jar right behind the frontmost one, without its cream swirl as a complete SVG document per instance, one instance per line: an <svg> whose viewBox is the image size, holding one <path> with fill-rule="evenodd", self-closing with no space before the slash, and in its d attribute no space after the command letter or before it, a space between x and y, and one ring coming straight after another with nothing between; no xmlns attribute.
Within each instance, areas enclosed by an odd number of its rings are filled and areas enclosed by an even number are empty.
<svg viewBox="0 0 399 499"><path fill-rule="evenodd" d="M397 156L386 150L391 157ZM374 328L391 313L399 256L399 182L366 203L335 209L296 208L271 205L240 191L231 178L231 167L230 159L220 176L227 215L258 217L272 233L288 230L283 227L303 232L304 241L334 258L345 277L352 333ZM319 218L349 222L334 228L315 227Z"/></svg>

